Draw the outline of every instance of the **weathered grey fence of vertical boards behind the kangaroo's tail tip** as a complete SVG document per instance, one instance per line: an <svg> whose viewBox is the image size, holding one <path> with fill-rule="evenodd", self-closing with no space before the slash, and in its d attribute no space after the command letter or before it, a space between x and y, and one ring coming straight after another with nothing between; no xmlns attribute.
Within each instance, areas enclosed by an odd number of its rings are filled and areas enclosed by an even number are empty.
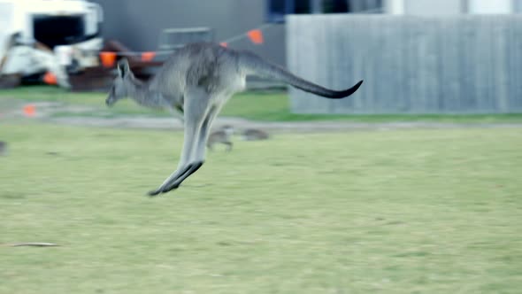
<svg viewBox="0 0 522 294"><path fill-rule="evenodd" d="M288 68L352 97L290 89L301 113L522 112L522 16L292 15Z"/></svg>

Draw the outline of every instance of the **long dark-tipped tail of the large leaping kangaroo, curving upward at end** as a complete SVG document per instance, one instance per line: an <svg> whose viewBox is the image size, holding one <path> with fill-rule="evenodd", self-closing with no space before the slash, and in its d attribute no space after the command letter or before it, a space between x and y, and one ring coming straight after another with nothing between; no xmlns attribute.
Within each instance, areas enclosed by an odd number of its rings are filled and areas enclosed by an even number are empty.
<svg viewBox="0 0 522 294"><path fill-rule="evenodd" d="M340 91L326 89L311 81L306 81L295 74L288 72L288 70L284 69L282 66L273 64L249 51L242 51L238 55L238 62L240 68L245 69L248 74L256 74L273 78L278 81L284 81L297 89L302 89L305 92L330 99L349 97L355 93L363 83L363 81L359 81L355 86Z"/></svg>

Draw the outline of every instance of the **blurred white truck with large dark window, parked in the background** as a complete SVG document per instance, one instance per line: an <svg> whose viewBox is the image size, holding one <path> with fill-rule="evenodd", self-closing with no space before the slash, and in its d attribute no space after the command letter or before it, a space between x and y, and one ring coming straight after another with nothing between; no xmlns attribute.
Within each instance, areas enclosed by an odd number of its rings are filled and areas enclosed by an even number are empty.
<svg viewBox="0 0 522 294"><path fill-rule="evenodd" d="M86 0L0 0L0 79L68 74L98 66L103 11Z"/></svg>

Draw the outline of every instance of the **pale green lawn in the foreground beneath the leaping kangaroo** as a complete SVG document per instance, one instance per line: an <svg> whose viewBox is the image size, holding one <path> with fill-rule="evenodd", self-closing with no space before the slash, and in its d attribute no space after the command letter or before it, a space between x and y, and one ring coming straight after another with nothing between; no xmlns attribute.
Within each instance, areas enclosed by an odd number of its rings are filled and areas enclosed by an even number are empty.
<svg viewBox="0 0 522 294"><path fill-rule="evenodd" d="M0 128L0 244L61 245L0 245L0 293L522 289L518 129L236 141L149 198L180 133Z"/></svg>

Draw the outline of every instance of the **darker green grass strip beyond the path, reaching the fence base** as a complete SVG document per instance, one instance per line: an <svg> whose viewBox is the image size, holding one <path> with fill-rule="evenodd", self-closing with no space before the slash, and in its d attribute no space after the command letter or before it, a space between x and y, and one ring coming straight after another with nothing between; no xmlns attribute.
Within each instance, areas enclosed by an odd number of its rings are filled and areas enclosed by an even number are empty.
<svg viewBox="0 0 522 294"><path fill-rule="evenodd" d="M115 117L120 115L170 116L166 111L155 111L140 107L132 101L121 101L113 108L105 107L105 93L69 93L63 89L46 86L22 87L0 91L2 97L12 97L24 102L54 101L65 104L85 105L92 110L82 113L58 112L55 116ZM260 121L311 121L336 120L364 123L377 122L449 122L449 123L522 123L522 113L510 114L425 114L425 115L343 115L343 114L296 114L289 111L286 93L249 92L234 96L226 104L222 116L241 117Z"/></svg>

